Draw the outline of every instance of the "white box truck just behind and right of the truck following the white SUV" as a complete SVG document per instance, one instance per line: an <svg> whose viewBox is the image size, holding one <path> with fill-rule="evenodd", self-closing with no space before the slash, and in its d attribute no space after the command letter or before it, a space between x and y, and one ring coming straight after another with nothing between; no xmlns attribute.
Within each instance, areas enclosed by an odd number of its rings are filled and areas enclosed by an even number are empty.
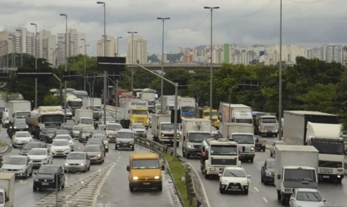
<svg viewBox="0 0 347 207"><path fill-rule="evenodd" d="M253 163L255 157L254 126L244 123L222 123L223 138L237 142L240 159Z"/></svg>

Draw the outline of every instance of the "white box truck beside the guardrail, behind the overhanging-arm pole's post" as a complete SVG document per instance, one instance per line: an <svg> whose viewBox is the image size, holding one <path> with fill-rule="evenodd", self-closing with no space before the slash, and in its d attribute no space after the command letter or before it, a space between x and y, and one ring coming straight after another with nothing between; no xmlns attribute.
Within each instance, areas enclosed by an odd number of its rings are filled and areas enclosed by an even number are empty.
<svg viewBox="0 0 347 207"><path fill-rule="evenodd" d="M171 116L169 114L152 114L151 121L151 133L153 135L153 141L174 145L175 124L171 123ZM177 130L176 145L178 146L182 140L179 125L177 125Z"/></svg>

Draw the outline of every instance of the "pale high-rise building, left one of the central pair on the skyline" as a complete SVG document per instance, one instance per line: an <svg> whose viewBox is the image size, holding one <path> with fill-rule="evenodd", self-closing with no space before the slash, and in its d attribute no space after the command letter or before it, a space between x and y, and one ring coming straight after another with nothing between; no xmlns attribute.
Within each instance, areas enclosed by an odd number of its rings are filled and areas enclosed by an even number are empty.
<svg viewBox="0 0 347 207"><path fill-rule="evenodd" d="M113 36L106 36L106 55L105 53L105 39L100 37L96 42L96 56L99 57L115 57L117 53L117 38Z"/></svg>

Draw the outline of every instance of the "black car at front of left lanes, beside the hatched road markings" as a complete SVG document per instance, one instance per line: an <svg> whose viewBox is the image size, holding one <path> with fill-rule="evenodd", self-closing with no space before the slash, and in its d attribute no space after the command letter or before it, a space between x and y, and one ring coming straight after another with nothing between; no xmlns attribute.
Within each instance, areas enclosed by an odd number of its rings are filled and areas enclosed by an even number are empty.
<svg viewBox="0 0 347 207"><path fill-rule="evenodd" d="M53 141L54 142L54 141ZM65 173L62 165L42 165L33 182L33 191L65 188Z"/></svg>

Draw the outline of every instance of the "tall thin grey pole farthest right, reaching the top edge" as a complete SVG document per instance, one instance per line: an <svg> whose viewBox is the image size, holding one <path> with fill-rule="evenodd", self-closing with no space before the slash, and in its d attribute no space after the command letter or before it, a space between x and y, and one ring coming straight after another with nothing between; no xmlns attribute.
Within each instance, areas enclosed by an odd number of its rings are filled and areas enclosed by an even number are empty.
<svg viewBox="0 0 347 207"><path fill-rule="evenodd" d="M282 0L280 0L280 69L278 74L278 140L282 140Z"/></svg>

